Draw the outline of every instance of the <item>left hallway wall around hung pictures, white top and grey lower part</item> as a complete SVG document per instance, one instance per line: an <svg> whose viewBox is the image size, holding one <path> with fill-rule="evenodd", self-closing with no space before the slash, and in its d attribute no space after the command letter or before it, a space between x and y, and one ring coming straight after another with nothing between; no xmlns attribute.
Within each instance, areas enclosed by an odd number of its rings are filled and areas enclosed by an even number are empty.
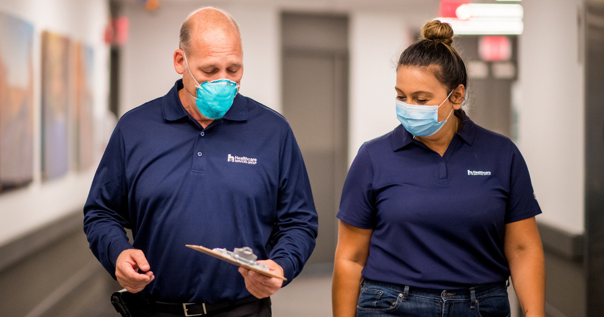
<svg viewBox="0 0 604 317"><path fill-rule="evenodd" d="M82 230L82 207L115 122L107 114L109 46L103 36L109 18L108 3L0 0L0 12L27 21L34 28L30 87L33 182L0 194L0 316L101 317L103 312L111 313L111 306L100 313L98 307L107 308L108 292L117 287L88 249ZM70 156L66 175L51 181L43 181L41 175L42 31L82 42L94 50L94 163L88 170L77 171L75 159Z"/></svg>

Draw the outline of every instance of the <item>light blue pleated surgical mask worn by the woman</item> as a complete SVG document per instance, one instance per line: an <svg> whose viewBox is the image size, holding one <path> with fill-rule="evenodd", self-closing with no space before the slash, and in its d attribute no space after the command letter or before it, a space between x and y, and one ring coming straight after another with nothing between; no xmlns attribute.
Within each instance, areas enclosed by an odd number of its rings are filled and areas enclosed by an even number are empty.
<svg viewBox="0 0 604 317"><path fill-rule="evenodd" d="M396 100L396 118L414 136L431 136L439 132L453 113L453 109L451 109L447 118L439 122L439 107L449 99L452 93L453 91L438 106L420 106Z"/></svg>

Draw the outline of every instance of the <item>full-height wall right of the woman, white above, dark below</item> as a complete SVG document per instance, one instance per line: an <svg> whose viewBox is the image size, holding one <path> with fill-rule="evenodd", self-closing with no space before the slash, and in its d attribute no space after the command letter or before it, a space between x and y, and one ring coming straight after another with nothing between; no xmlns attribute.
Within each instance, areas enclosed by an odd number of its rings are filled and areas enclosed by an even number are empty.
<svg viewBox="0 0 604 317"><path fill-rule="evenodd" d="M545 249L545 311L547 316L591 316L586 315L583 257L583 1L533 0L522 5L516 144L543 210L537 219Z"/></svg>

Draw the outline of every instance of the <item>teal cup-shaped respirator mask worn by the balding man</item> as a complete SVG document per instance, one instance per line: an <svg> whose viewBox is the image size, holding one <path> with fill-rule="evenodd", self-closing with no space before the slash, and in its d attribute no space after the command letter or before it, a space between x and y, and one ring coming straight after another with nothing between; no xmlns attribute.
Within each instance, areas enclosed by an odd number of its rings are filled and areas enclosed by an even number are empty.
<svg viewBox="0 0 604 317"><path fill-rule="evenodd" d="M193 73L191 73L191 69L188 67L187 56L185 55L184 57L189 74L193 77ZM216 120L222 118L228 109L233 106L233 99L237 95L239 85L233 82L233 80L226 78L204 82L201 85L195 77L193 77L193 80L197 84L195 86L197 88L197 97L194 95L191 95L191 97L195 98L195 104L199 112L209 119ZM189 94L191 93L189 92Z"/></svg>

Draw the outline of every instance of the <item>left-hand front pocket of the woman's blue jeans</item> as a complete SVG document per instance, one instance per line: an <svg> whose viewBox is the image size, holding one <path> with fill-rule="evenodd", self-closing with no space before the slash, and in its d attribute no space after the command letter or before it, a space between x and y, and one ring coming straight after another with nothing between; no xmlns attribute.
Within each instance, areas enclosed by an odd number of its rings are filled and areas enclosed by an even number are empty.
<svg viewBox="0 0 604 317"><path fill-rule="evenodd" d="M357 310L396 310L402 293L381 285L365 283L359 294Z"/></svg>

